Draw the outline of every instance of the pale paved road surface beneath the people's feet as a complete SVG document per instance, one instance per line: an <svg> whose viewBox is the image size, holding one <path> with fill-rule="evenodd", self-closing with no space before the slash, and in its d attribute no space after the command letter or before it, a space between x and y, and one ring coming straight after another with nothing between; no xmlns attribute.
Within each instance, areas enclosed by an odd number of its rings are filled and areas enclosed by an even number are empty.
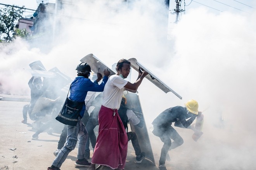
<svg viewBox="0 0 256 170"><path fill-rule="evenodd" d="M31 136L35 133L31 127L33 121L28 119L28 124L21 123L22 107L25 104L28 104L28 102L0 100L0 170L46 170L55 158L53 151L57 148L62 129L55 130L52 135L46 132L41 133L38 140L32 140ZM158 160L163 143L159 138L153 136L151 132L149 132L149 136L156 166L147 159L141 164L136 164L135 152L131 142L129 142L125 170L158 170ZM187 160L187 153L182 153L183 151L181 151L182 149L177 148L176 151L171 152L170 156L174 158L172 158L171 162L166 162L168 170L195 169L191 158ZM176 153L179 153L180 156L173 156ZM77 148L71 151L61 167L62 170L87 169L86 167L74 166L76 154ZM186 163L184 163L184 160Z"/></svg>

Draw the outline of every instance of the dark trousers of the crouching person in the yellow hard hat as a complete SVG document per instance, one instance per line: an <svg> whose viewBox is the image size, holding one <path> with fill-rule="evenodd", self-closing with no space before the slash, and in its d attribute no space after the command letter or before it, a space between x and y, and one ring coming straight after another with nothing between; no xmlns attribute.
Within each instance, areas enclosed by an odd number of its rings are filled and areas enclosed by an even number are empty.
<svg viewBox="0 0 256 170"><path fill-rule="evenodd" d="M159 160L159 165L164 165L168 150L182 145L183 139L172 126L170 126L169 129L160 129L154 126L152 133L155 136L158 136L164 143L163 148L161 149L161 156ZM171 143L171 139L173 139L173 143Z"/></svg>

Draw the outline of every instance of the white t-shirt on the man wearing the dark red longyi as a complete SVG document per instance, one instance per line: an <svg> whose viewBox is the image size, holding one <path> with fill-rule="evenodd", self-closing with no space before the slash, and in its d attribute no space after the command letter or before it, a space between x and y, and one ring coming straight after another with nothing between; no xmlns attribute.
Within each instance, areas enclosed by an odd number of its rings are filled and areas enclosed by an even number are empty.
<svg viewBox="0 0 256 170"><path fill-rule="evenodd" d="M119 109L127 83L128 81L119 75L110 76L104 87L102 105L111 109Z"/></svg>

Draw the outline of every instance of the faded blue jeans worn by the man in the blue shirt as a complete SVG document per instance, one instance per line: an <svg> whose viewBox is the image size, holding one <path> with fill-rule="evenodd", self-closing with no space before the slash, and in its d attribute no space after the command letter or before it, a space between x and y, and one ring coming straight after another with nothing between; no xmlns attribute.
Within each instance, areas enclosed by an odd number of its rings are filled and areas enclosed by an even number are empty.
<svg viewBox="0 0 256 170"><path fill-rule="evenodd" d="M78 139L79 143L77 159L83 159L85 154L85 143L88 137L88 133L83 122L80 120L77 122L76 126L68 125L67 128L67 141L52 163L52 165L58 168L60 168L62 163L66 160L69 152L74 150Z"/></svg>

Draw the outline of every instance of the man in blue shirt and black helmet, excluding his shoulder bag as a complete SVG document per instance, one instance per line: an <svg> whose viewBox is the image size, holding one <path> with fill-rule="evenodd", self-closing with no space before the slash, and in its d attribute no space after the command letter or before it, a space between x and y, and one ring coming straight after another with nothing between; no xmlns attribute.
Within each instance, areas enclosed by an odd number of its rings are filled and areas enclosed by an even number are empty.
<svg viewBox="0 0 256 170"><path fill-rule="evenodd" d="M91 67L87 63L80 63L77 67L77 77L71 83L71 87L69 90L69 99L75 102L83 102L85 101L85 97L88 91L92 92L103 92L105 84L108 80L108 76L110 75L110 71L107 69L104 70L104 78L102 83L99 85L98 82L102 79L102 75L97 73L97 80L92 82L88 77L90 76ZM60 170L62 163L66 160L67 155L70 151L74 150L76 147L76 142L79 139L78 143L78 154L77 161L75 166L77 167L89 167L91 163L88 162L87 159L84 158L85 154L85 143L88 137L88 133L85 129L85 125L81 121L83 114L85 112L85 105L80 111L80 118L77 122L76 126L68 125L67 130L67 141L59 154L56 156L54 162L51 167L48 167L47 170Z"/></svg>

